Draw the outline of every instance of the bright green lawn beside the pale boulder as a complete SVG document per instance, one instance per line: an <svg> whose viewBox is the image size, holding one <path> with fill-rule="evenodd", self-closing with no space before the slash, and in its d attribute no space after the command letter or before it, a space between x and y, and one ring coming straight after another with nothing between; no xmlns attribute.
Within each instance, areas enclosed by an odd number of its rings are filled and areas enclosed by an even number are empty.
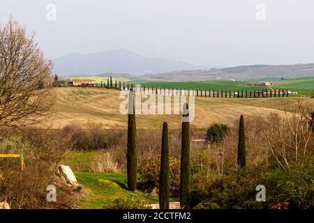
<svg viewBox="0 0 314 223"><path fill-rule="evenodd" d="M87 187L91 194L80 201L82 208L106 208L112 201L119 198L132 200L144 199L147 203L158 203L158 197L145 195L143 192L130 192L126 186L126 174L111 173L75 173L77 181ZM170 199L177 201L177 199Z"/></svg>

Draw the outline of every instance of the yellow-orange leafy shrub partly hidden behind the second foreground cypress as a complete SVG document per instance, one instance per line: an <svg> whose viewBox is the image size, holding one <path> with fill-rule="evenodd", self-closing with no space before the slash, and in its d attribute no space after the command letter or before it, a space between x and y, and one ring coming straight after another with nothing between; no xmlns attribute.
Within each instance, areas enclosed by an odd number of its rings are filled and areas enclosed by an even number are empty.
<svg viewBox="0 0 314 223"><path fill-rule="evenodd" d="M175 157L170 157L169 168L170 168L170 197L177 197L180 183L180 161ZM141 174L141 179L144 180L147 183L147 185L151 184L154 185L154 187L159 187L160 155L144 162L142 166L140 166L139 173Z"/></svg>

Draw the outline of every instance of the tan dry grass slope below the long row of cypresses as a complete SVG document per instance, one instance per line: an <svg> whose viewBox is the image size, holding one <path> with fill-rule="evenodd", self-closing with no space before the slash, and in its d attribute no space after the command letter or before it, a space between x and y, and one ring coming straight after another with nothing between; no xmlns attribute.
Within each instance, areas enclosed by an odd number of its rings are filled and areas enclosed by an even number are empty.
<svg viewBox="0 0 314 223"><path fill-rule="evenodd" d="M57 89L57 113L54 128L62 128L70 123L87 127L91 123L103 128L126 128L127 116L119 112L122 101L119 91L110 89ZM195 99L195 119L191 128L207 128L211 123L233 125L244 116L266 117L271 112L283 114L281 103L284 100L297 103L303 100L314 105L311 98L197 98ZM137 128L161 128L167 121L169 128L181 128L180 115L137 115Z"/></svg>

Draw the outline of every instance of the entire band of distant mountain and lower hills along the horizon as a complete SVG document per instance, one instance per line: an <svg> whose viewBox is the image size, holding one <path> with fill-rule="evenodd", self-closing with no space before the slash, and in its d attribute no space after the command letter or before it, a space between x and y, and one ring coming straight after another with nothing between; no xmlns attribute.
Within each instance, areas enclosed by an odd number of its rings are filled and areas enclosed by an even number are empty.
<svg viewBox="0 0 314 223"><path fill-rule="evenodd" d="M53 62L54 72L61 76L95 76L112 73L121 77L144 75L151 79L172 81L314 76L314 63L215 68L213 66L195 66L171 59L151 58L126 49L92 54L71 53L54 59Z"/></svg>

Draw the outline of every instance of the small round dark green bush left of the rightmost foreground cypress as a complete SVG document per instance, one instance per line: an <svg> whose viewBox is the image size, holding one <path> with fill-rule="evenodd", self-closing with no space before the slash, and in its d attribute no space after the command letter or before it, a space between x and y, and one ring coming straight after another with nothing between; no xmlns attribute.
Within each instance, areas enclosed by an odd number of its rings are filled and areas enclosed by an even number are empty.
<svg viewBox="0 0 314 223"><path fill-rule="evenodd" d="M211 143L220 143L229 132L230 128L227 125L214 123L207 129L206 139Z"/></svg>

